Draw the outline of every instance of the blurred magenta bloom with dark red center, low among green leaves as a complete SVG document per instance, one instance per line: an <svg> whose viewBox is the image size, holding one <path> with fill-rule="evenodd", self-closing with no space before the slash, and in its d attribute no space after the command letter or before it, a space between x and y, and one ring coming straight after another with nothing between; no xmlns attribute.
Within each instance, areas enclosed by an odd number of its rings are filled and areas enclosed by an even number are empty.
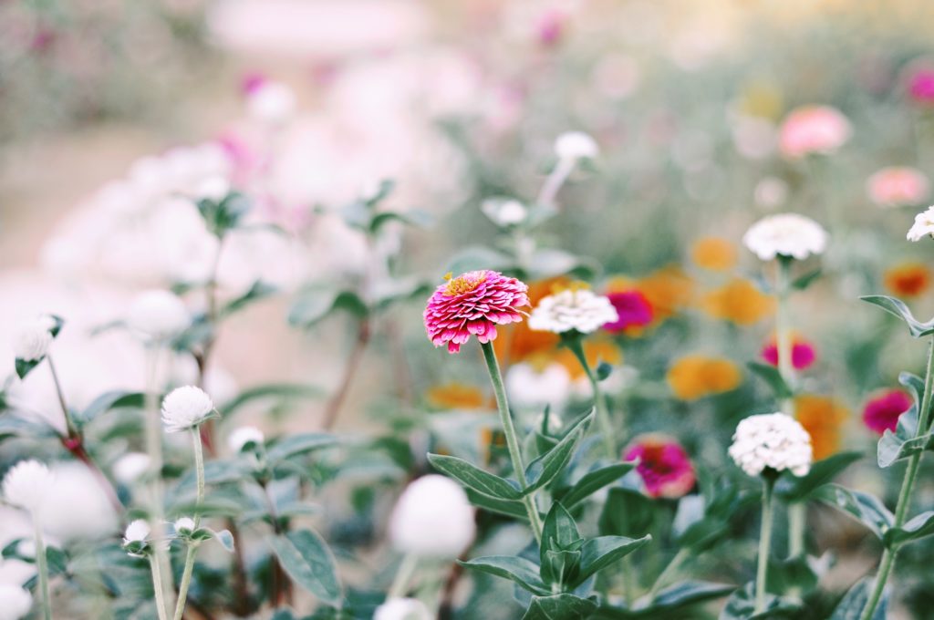
<svg viewBox="0 0 934 620"><path fill-rule="evenodd" d="M653 498L680 498L694 487L694 466L681 444L668 435L636 437L623 460L639 459L636 472Z"/></svg>

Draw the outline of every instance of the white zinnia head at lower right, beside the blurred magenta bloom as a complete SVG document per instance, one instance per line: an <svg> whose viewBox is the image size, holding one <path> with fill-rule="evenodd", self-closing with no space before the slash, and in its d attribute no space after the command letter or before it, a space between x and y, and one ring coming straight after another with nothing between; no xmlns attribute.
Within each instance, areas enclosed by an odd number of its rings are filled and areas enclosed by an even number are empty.
<svg viewBox="0 0 934 620"><path fill-rule="evenodd" d="M795 418L776 413L744 418L733 434L729 457L751 476L766 468L802 476L811 471L814 455L808 431Z"/></svg>

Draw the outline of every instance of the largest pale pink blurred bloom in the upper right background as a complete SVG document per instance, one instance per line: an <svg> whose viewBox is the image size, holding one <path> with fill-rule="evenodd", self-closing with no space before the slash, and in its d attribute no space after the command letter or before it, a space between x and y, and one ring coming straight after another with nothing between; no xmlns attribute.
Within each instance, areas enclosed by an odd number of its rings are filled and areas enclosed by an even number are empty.
<svg viewBox="0 0 934 620"><path fill-rule="evenodd" d="M829 106L802 106L791 111L779 133L778 145L788 158L832 153L850 139L850 121Z"/></svg>

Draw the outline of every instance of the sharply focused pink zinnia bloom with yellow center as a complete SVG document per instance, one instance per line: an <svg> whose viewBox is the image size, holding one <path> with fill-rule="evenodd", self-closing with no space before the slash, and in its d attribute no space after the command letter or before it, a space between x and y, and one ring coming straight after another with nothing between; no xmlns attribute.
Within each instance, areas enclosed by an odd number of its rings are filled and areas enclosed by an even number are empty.
<svg viewBox="0 0 934 620"><path fill-rule="evenodd" d="M435 346L460 351L471 334L481 343L496 338L496 326L518 323L529 305L529 287L515 277L481 270L455 278L435 289L425 308L425 331Z"/></svg>

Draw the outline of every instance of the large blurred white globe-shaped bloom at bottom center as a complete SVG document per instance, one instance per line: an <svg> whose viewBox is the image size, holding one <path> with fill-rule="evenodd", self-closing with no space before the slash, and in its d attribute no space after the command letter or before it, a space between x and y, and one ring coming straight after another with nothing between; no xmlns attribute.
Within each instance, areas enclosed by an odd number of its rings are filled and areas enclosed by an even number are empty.
<svg viewBox="0 0 934 620"><path fill-rule="evenodd" d="M458 557L474 534L467 494L442 475L422 476L406 486L389 516L389 540L405 554Z"/></svg>

